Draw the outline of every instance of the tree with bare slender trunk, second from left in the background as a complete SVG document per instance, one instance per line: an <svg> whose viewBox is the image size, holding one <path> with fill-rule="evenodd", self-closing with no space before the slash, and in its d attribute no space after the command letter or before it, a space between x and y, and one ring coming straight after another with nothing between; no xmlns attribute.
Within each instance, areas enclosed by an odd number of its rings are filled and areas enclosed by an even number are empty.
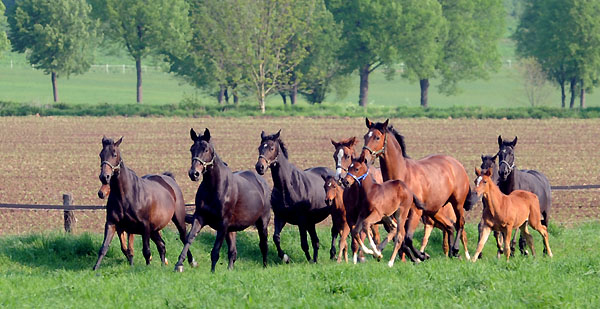
<svg viewBox="0 0 600 309"><path fill-rule="evenodd" d="M185 0L90 0L107 37L135 60L137 102L142 103L142 60L151 52L177 54L189 36Z"/></svg>

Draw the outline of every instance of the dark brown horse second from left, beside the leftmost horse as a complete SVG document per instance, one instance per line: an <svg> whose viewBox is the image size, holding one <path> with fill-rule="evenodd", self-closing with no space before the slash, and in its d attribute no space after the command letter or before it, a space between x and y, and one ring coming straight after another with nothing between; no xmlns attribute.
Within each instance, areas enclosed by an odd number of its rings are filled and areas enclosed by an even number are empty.
<svg viewBox="0 0 600 309"><path fill-rule="evenodd" d="M236 232L255 226L259 236L259 247L263 258L263 267L267 266L268 225L271 220L271 190L264 178L254 171L232 172L217 155L211 142L210 130L204 130L199 136L190 129L193 141L190 152L192 166L188 175L192 181L202 182L196 192L196 211L192 228L184 243L175 271L183 271L183 261L189 254L189 247L203 226L216 230L215 243L210 254L211 272L219 260L219 251L223 240L227 241L229 265L237 260Z"/></svg>

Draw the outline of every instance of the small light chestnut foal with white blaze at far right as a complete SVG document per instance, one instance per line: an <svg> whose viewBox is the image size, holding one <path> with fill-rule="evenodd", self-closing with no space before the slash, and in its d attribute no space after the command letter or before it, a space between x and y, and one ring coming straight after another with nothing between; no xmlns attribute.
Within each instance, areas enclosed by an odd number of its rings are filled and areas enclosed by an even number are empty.
<svg viewBox="0 0 600 309"><path fill-rule="evenodd" d="M548 230L541 221L542 215L537 195L525 190L514 190L506 195L500 191L500 188L491 179L491 170L488 169L482 172L480 169L475 168L475 174L477 175L475 191L485 198L485 207L481 216L480 225L482 229L479 235L479 243L472 261L477 261L491 230L500 231L503 234L506 261L508 261L511 253L510 239L513 228L520 228L521 235L525 235L527 245L531 249L531 254L535 256L533 237L527 229L527 222L542 235L544 252L552 257L552 251L548 243Z"/></svg>

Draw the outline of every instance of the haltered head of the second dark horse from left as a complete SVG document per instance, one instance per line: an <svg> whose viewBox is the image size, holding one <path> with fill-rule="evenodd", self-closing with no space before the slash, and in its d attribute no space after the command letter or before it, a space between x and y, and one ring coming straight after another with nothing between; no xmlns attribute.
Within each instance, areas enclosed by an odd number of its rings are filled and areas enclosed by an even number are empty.
<svg viewBox="0 0 600 309"><path fill-rule="evenodd" d="M194 129L190 129L190 137L194 144L190 148L192 153L192 166L188 171L188 176L192 181L200 180L200 176L213 166L215 160L215 149L210 142L210 131L204 130L203 135L197 135Z"/></svg>

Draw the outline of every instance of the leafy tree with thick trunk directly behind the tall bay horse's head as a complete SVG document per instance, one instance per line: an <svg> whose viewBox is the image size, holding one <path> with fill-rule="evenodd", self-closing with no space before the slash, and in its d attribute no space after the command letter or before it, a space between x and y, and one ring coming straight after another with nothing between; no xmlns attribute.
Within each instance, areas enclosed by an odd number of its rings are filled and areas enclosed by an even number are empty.
<svg viewBox="0 0 600 309"><path fill-rule="evenodd" d="M369 74L398 60L402 29L400 0L326 0L345 39L340 60L360 75L359 105L368 102Z"/></svg>

